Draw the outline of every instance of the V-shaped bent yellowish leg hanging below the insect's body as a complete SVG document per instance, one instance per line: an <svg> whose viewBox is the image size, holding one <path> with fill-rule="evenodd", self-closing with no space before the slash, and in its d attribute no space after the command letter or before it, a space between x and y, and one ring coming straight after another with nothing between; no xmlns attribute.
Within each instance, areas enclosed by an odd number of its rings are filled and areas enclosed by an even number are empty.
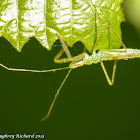
<svg viewBox="0 0 140 140"><path fill-rule="evenodd" d="M113 83L114 83L115 72L116 72L116 65L117 65L117 60L114 61L113 72L112 72L112 78L111 78L111 80L110 80L110 78L109 78L109 76L108 76L108 73L107 73L107 71L106 71L106 68L105 68L105 66L104 66L104 63L101 62L101 67L102 67L102 69L103 69L103 71L104 71L105 77L106 77L107 82L108 82L109 85L113 85Z"/></svg>

